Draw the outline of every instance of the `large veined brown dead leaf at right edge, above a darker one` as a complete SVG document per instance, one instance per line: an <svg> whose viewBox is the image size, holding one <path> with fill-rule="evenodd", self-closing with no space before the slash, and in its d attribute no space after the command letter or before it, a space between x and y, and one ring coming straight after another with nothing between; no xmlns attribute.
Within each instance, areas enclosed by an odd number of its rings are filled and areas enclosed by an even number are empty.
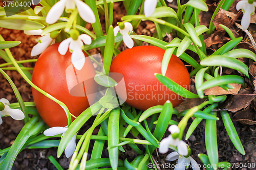
<svg viewBox="0 0 256 170"><path fill-rule="evenodd" d="M255 98L255 95L239 95L239 94L254 94L253 89L242 88L238 95L232 95L231 98L221 107L221 110L228 110L231 112L237 112L245 109L250 105L251 101Z"/></svg>

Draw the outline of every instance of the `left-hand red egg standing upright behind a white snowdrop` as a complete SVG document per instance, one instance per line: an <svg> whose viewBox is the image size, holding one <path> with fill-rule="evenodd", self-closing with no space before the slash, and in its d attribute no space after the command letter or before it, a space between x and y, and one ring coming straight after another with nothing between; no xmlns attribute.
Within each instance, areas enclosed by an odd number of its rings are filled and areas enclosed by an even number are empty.
<svg viewBox="0 0 256 170"><path fill-rule="evenodd" d="M39 56L34 67L32 82L37 87L54 96L54 98L63 102L73 115L78 116L89 107L89 102L87 96L77 97L70 95L66 80L66 69L72 64L71 53L68 51L66 55L60 55L58 46L59 43L49 46ZM87 57L86 54L85 56ZM83 68L86 68L86 74L95 75L95 69L91 60L86 59ZM70 79L70 81L74 81L74 79ZM89 91L96 92L97 84L92 79L87 81L87 87L91 87L91 89L88 89ZM32 88L32 94L40 116L49 127L65 127L68 125L66 113L59 104L34 88ZM73 117L72 120L74 120Z"/></svg>

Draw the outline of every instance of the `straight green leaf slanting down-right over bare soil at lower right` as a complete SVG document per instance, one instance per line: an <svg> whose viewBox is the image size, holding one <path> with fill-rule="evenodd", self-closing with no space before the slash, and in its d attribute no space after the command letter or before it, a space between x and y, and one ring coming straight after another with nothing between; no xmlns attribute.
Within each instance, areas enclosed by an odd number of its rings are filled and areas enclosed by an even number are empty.
<svg viewBox="0 0 256 170"><path fill-rule="evenodd" d="M242 154L245 155L243 144L241 143L241 140L238 136L238 133L236 131L236 128L234 128L234 125L232 123L232 120L228 114L227 111L221 111L221 117L223 120L223 124L225 126L225 129L227 131L227 134L234 144L234 147Z"/></svg>

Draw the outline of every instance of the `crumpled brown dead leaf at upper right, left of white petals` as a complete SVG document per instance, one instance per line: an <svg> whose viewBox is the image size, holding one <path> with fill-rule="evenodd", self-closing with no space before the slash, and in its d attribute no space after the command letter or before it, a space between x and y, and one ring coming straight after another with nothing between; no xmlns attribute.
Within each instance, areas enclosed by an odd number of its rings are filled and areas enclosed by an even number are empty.
<svg viewBox="0 0 256 170"><path fill-rule="evenodd" d="M233 12L228 12L220 9L212 22L214 23L216 30L221 31L223 30L223 28L221 28L220 24L226 26L227 28L232 27L232 25L234 24L234 22L236 22L241 13L241 10L237 14L234 14Z"/></svg>

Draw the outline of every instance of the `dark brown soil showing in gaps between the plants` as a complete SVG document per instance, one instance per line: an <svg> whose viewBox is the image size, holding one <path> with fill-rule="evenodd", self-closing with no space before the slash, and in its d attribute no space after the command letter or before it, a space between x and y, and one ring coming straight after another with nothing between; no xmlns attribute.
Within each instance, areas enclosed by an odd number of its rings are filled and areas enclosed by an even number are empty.
<svg viewBox="0 0 256 170"><path fill-rule="evenodd" d="M214 3L218 3L219 1L206 1L207 4L211 5L209 6L209 12L207 13L200 13L200 23L201 25L206 25L208 27L209 25L209 20L212 15L212 11L215 10L216 5ZM235 1L233 3L233 6L230 8L230 11L237 14L238 11L234 10L235 5L237 4L238 1ZM186 1L181 1L181 3L186 3ZM2 2L0 2L0 5L2 6ZM172 4L168 4L169 6L173 7L177 11L177 4L176 1L174 1ZM240 13L241 14L241 13ZM234 18L234 21L240 23L242 15L238 14L237 18ZM114 21L115 23L114 27L116 26L116 23L118 21L121 21L121 17L125 15L125 9L122 3L115 3L114 4ZM218 21L217 21L218 22ZM101 23L102 23L102 28L104 29L104 16L101 16ZM221 22L219 22L221 23ZM255 23L255 22L254 22ZM253 37L256 36L255 33L255 25L254 23L251 24L251 27L248 29L250 33L252 34ZM225 25L225 23L222 23ZM90 31L92 31L92 27L90 24L87 25L86 27ZM230 26L231 31L234 33L236 37L243 36L244 41L251 43L250 39L248 36L241 31L239 28L237 28L235 25ZM155 25L151 21L142 21L140 26L138 27L137 30L135 30L137 34L142 34L142 35L150 35L153 36L155 31ZM103 30L105 34L105 30ZM16 60L26 60L26 59L36 59L39 56L36 57L31 57L30 53L32 50L32 47L37 43L37 39L40 36L28 36L23 33L23 31L19 30L8 30L8 29L3 29L0 28L0 34L5 38L7 41L21 41L22 43L16 47L11 48L11 52L13 56L15 57ZM169 42L170 40L175 37L175 32L172 34L167 35L164 40L166 42ZM220 33L220 32L215 32L214 35L211 36L204 36L206 45L208 47L208 52L209 54L217 50L220 46L222 46L227 40L228 40L228 35L225 33ZM254 38L255 39L255 38ZM148 43L143 42L143 45L148 45ZM120 45L119 50L123 51L125 50L126 47L124 45ZM99 49L93 49L90 50L89 53L91 55L99 53ZM195 54L192 54L191 52L189 53L190 56L195 56ZM0 63L5 63L3 59L0 59ZM246 61L245 61L246 63ZM185 63L186 64L186 63ZM34 67L34 63L26 63L24 64L26 67ZM191 71L191 66L186 65L188 71ZM238 72L234 72L233 70L223 70L226 74L238 74ZM13 80L15 85L17 86L20 94L22 95L22 98L25 102L33 102L33 96L31 92L31 87L26 81L20 76L17 71L15 70L7 70L6 73L10 78ZM194 77L193 77L194 78ZM193 78L191 79L191 82L193 83L194 80ZM247 87L252 87L252 84L247 80ZM3 75L0 75L0 99L1 98L6 98L10 101L10 103L15 103L17 102L15 95L13 93L13 90L7 80L4 78ZM228 98L231 98L231 95L228 95ZM197 99L192 99L192 100L187 100L185 101L180 107L179 110L184 110L184 109L189 109L193 106L196 106L203 101L199 101ZM219 148L219 161L228 161L230 163L239 163L241 164L239 168L232 168L232 169L256 169L256 168L248 168L246 167L246 163L254 163L256 164L256 126L253 125L253 122L255 120L255 109L254 109L254 102L256 100L254 99L251 103L250 106L252 107L252 118L248 120L251 125L247 125L248 121L234 121L233 124L236 127L236 130L240 136L241 142L244 146L246 154L243 156L241 155L236 148L234 148L231 140L229 139L227 132L224 128L224 125L222 123L222 120L219 120L217 122L217 137L218 137L218 148ZM237 110L238 111L238 110ZM243 111L243 110L242 110ZM236 112L230 112L230 116L233 117L233 115ZM247 112L244 112L247 114ZM248 113L249 114L249 113ZM218 117L221 117L218 115ZM247 117L246 117L247 118ZM245 119L246 119L245 118ZM177 117L174 117L174 119L178 120ZM248 118L247 118L248 119ZM235 120L233 118L233 120ZM192 120L190 119L187 128L191 124ZM82 134L82 132L85 132L87 129L91 127L93 123L93 119L90 119L86 125L84 125L79 132ZM243 123L243 124L242 124ZM15 140L17 134L19 133L20 129L22 129L24 126L23 121L17 121L13 120L11 117L4 117L3 118L3 124L0 125L0 148L5 149L7 147L10 147L10 145L13 143ZM204 153L206 154L206 148L205 148L205 140L204 140L204 133L205 133L205 120L200 123L200 125L196 128L195 132L193 135L190 136L190 138L186 141L189 147L192 150L191 156L199 163L202 164L200 159L198 158L199 153ZM94 132L94 134L97 134L97 130ZM165 137L169 135L169 132L167 131L165 134ZM127 137L132 137L132 134L129 134ZM142 136L138 136L138 138L142 139ZM89 153L92 152L94 140L90 143L90 148L89 148ZM102 153L102 157L108 157L108 151L106 150L106 143L105 143L105 148ZM137 154L129 147L129 145L124 145L123 146L125 152L119 152L119 158L122 160L127 160L131 162ZM142 151L145 151L144 146L139 145L139 148ZM155 151L152 155L152 157L156 160L158 164L164 164L165 162L175 164L176 162L170 162L170 161L165 161L165 157L167 154L169 154L170 151L166 154L160 154L157 151ZM19 169L19 170L29 170L29 169L38 169L38 170L52 170L56 169L55 166L49 161L48 156L54 156L56 160L60 163L60 165L64 169L68 169L69 162L71 158L66 158L65 155L62 155L60 158L57 158L57 148L51 148L51 149L25 149L22 152L20 152L14 162L13 169ZM88 159L90 159L90 154L88 156ZM243 168L242 168L243 165ZM159 169L159 168L158 168ZM167 169L167 168L160 168L160 169ZM231 169L231 168L230 168Z"/></svg>

